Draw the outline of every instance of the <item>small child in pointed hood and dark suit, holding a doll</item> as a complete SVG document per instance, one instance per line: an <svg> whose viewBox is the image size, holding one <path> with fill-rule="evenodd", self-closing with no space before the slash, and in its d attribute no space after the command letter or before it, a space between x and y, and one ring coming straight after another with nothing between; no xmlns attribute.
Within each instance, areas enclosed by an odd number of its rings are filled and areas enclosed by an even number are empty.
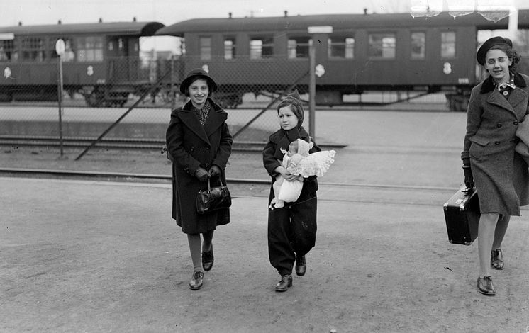
<svg viewBox="0 0 529 333"><path fill-rule="evenodd" d="M263 164L268 174L272 176L272 184L281 175L284 181L294 181L301 176L294 176L281 164L284 154L281 149L288 150L290 142L297 139L310 142L308 133L301 126L304 110L299 101L297 91L287 96L277 106L279 125L281 129L269 137L269 141L262 151ZM319 152L321 149L314 144L309 152ZM303 177L301 177L303 179ZM306 271L307 254L316 244L316 191L318 182L316 176L303 179L301 194L293 203L285 203L282 208L271 205L274 198L274 188L270 186L268 199L268 254L270 264L277 269L281 280L277 283L276 291L285 291L292 286L292 268L296 262L296 274L303 276Z"/></svg>

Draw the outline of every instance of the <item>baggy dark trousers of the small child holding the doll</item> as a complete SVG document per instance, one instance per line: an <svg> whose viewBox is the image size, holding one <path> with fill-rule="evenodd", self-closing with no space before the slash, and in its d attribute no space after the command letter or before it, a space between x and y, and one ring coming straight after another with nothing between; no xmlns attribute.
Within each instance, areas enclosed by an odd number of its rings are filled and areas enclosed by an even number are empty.
<svg viewBox="0 0 529 333"><path fill-rule="evenodd" d="M292 273L297 256L316 244L316 193L304 201L268 210L268 255L280 275Z"/></svg>

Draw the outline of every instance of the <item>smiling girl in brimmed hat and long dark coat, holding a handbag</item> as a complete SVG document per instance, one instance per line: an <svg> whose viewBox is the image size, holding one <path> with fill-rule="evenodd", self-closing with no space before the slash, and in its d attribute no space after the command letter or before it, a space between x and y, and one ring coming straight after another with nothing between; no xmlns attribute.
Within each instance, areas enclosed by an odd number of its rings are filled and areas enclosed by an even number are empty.
<svg viewBox="0 0 529 333"><path fill-rule="evenodd" d="M180 85L190 101L171 113L167 128L167 151L172 159L172 218L187 234L193 276L189 288L203 285L204 271L213 266L213 231L217 225L230 222L230 210L196 212L196 194L207 188L211 178L225 184L225 166L231 154L233 139L225 120L228 113L209 95L217 85L202 69L193 69ZM204 244L201 244L202 234ZM204 269L204 271L203 271Z"/></svg>

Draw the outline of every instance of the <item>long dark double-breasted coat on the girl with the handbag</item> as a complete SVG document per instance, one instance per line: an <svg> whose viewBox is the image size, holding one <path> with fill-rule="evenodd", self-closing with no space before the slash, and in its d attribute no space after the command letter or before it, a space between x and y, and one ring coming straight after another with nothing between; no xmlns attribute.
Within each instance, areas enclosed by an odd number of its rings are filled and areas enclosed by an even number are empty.
<svg viewBox="0 0 529 333"><path fill-rule="evenodd" d="M215 230L217 225L230 222L230 210L216 210L210 213L196 213L196 193L207 188L207 181L201 182L194 176L201 166L209 170L215 164L222 170L221 179L225 184L225 167L231 154L233 138L225 120L228 118L220 106L208 98L211 111L204 126L194 111L191 101L171 113L167 128L167 151L172 159L172 218L186 234L197 234ZM218 179L210 180L212 185Z"/></svg>

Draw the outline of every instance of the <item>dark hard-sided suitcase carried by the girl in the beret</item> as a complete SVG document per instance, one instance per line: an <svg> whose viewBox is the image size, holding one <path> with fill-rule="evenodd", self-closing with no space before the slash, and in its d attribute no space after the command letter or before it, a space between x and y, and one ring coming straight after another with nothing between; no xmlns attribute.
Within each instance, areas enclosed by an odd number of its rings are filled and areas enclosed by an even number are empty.
<svg viewBox="0 0 529 333"><path fill-rule="evenodd" d="M476 188L463 185L444 205L448 240L452 244L470 245L477 237L479 200Z"/></svg>

